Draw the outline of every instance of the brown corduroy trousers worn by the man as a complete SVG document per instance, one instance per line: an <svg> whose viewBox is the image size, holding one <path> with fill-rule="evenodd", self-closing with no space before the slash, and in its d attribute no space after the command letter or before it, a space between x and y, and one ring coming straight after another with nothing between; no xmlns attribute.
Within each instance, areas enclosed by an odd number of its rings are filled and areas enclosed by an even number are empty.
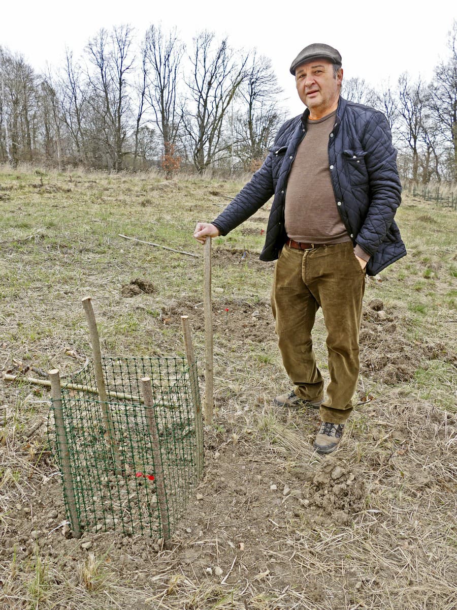
<svg viewBox="0 0 457 610"><path fill-rule="evenodd" d="M323 422L344 423L352 411L359 373L359 332L365 271L352 242L296 250L284 246L277 260L271 304L285 369L305 400L324 396L311 340L322 307L327 328L327 400Z"/></svg>

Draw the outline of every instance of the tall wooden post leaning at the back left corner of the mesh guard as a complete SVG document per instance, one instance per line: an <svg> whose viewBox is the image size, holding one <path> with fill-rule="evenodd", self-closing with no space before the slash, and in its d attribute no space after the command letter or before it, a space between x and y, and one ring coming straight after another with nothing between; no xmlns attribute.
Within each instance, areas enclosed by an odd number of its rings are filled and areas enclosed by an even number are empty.
<svg viewBox="0 0 457 610"><path fill-rule="evenodd" d="M105 387L105 378L103 375L103 367L102 367L102 353L100 350L100 340L97 331L97 323L95 320L95 314L92 307L90 296L87 296L82 300L82 306L86 312L87 323L89 326L90 332L90 340L92 343L92 353L94 357L94 370L95 370L95 379L98 390L98 397L100 400L100 404L102 407L102 415L105 422L105 427L107 430L107 443L110 448L112 458L113 458L113 467L116 475L122 474L122 465L121 465L121 456L119 454L118 443L116 442L115 437L115 428L113 423L113 416L110 411L110 406L107 404L108 396Z"/></svg>

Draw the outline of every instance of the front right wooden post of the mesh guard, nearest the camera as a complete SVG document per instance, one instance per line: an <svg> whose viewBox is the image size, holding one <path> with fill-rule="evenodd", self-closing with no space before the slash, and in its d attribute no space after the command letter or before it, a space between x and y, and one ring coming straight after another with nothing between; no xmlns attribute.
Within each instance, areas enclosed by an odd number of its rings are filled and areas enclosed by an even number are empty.
<svg viewBox="0 0 457 610"><path fill-rule="evenodd" d="M155 490L157 492L158 509L160 513L160 529L163 537L163 544L165 548L168 548L170 539L170 522L166 503L162 454L160 451L160 443L158 439L157 419L155 417L154 398L152 398L152 386L150 377L143 377L141 379L141 390L143 392L144 412L146 413L147 428L149 430L152 453L154 455L154 479Z"/></svg>

